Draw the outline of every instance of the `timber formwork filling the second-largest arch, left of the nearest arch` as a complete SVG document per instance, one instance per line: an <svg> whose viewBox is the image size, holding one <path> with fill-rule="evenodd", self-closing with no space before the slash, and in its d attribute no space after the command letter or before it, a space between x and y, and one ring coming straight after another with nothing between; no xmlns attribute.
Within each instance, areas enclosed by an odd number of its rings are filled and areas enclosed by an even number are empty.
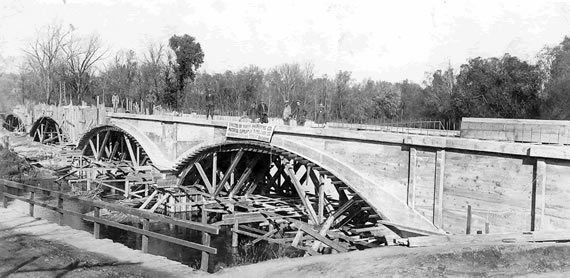
<svg viewBox="0 0 570 278"><path fill-rule="evenodd" d="M95 184L103 190L119 191L125 198L142 199L159 177L137 139L114 125L88 131L77 150L71 170L76 179L69 182L86 182L88 190Z"/></svg>

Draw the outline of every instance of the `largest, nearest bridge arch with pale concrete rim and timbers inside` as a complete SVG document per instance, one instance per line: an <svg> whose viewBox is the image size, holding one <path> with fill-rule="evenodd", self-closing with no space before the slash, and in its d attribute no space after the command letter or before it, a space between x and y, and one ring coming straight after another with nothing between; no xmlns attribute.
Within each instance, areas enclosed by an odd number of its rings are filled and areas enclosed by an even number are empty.
<svg viewBox="0 0 570 278"><path fill-rule="evenodd" d="M227 206L227 200L247 203L244 200L276 198L288 211L285 215L345 231L356 241L369 236L362 231L382 227L399 236L442 233L385 190L367 190L372 183L357 171L290 140L228 140L200 146L181 157L174 168L179 187L207 195L222 206ZM245 210L263 210L264 205L255 208L255 204L249 202Z"/></svg>

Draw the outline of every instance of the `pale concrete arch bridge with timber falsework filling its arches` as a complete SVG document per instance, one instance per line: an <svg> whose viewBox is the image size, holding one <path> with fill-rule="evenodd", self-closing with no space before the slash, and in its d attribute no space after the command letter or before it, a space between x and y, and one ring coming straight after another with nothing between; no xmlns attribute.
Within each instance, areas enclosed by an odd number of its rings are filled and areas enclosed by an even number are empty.
<svg viewBox="0 0 570 278"><path fill-rule="evenodd" d="M78 140L79 180L139 209L204 210L236 238L343 252L464 233L467 206L475 231L570 226L563 146L290 126L253 140L223 121L105 117Z"/></svg>

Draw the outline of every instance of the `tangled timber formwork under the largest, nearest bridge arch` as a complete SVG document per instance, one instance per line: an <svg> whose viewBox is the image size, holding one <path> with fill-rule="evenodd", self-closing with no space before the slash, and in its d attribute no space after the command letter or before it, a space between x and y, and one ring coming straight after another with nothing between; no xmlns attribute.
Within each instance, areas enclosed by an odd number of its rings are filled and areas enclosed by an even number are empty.
<svg viewBox="0 0 570 278"><path fill-rule="evenodd" d="M231 225L258 242L289 244L309 254L345 252L399 237L357 192L327 169L257 141L198 148L175 166L178 186L141 206L202 210L210 222ZM237 239L234 239L237 245Z"/></svg>

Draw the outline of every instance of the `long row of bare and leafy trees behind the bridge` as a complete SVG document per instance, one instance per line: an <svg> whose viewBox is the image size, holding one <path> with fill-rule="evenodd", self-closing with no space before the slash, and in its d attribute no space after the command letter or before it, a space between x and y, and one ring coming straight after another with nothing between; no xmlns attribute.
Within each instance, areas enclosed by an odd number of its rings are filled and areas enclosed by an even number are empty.
<svg viewBox="0 0 570 278"><path fill-rule="evenodd" d="M50 25L24 50L26 63L12 79L23 98L47 103L113 95L153 102L184 113L203 113L212 92L218 113L243 113L265 101L279 116L285 101L299 101L314 117L320 104L329 120L368 123L419 119L458 122L462 117L570 119L570 38L544 47L531 63L505 53L475 57L455 71L436 70L422 84L409 80L357 81L349 71L316 76L311 63L270 69L200 71L206 58L190 35L149 43L143 53L109 53L99 36L79 37L70 27ZM109 59L109 57L111 57ZM104 59L106 58L106 59ZM103 62L103 61L106 62Z"/></svg>

